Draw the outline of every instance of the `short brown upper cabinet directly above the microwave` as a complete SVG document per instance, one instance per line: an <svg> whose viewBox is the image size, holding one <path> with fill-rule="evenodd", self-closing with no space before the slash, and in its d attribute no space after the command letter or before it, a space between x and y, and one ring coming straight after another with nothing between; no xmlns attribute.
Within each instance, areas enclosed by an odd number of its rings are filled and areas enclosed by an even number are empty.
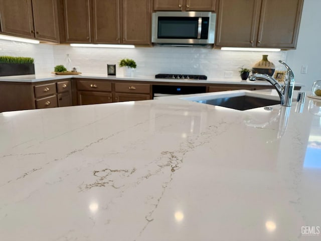
<svg viewBox="0 0 321 241"><path fill-rule="evenodd" d="M215 11L216 0L154 0L155 11Z"/></svg>

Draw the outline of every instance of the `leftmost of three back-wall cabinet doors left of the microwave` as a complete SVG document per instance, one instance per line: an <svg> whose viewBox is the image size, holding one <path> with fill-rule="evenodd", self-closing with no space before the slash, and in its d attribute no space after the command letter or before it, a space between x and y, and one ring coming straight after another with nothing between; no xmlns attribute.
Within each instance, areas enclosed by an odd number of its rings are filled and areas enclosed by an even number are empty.
<svg viewBox="0 0 321 241"><path fill-rule="evenodd" d="M90 43L89 0L64 0L67 43Z"/></svg>

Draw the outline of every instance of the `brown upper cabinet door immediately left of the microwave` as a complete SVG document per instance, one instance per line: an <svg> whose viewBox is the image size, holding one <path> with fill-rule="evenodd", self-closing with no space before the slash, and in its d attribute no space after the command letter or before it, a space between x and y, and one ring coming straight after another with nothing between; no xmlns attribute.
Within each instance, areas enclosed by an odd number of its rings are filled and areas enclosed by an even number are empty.
<svg viewBox="0 0 321 241"><path fill-rule="evenodd" d="M150 44L150 0L123 0L123 43Z"/></svg>

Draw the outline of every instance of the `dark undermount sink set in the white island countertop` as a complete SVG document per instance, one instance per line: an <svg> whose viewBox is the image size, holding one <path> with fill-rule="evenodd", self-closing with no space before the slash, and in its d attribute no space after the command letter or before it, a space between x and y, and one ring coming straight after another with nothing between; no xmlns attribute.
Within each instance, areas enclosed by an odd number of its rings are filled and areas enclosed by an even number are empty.
<svg viewBox="0 0 321 241"><path fill-rule="evenodd" d="M258 107L264 107L268 105L280 104L280 100L266 99L253 97L248 95L241 96L229 96L221 98L203 99L203 100L193 100L194 102L219 105L227 108L246 110Z"/></svg>

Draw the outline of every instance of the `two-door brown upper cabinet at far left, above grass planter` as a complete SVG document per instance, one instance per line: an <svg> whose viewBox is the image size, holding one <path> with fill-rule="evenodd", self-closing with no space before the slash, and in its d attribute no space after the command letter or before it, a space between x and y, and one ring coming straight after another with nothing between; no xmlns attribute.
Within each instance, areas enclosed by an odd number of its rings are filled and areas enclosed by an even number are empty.
<svg viewBox="0 0 321 241"><path fill-rule="evenodd" d="M0 0L2 32L59 42L56 0Z"/></svg>

